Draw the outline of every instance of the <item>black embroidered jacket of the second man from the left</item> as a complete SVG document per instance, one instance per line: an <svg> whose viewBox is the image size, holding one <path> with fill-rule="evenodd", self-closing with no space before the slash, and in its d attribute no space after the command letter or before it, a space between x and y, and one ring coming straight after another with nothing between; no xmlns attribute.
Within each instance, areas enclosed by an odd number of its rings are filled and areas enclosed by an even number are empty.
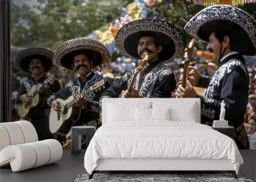
<svg viewBox="0 0 256 182"><path fill-rule="evenodd" d="M93 119L99 119L100 107L99 100L100 95L103 93L104 89L91 90L91 86L100 82L100 80L104 80L104 87L109 87L109 82L104 77L91 72L86 79L86 82L82 82L79 77L72 79L68 84L60 89L56 94L51 95L47 103L49 105L52 104L52 101L56 98L61 98L62 100L66 100L69 96L76 96L77 94L81 94L86 98L87 104L83 106L81 109L81 116L79 120L76 122L76 125L85 124ZM91 90L91 91L90 91Z"/></svg>

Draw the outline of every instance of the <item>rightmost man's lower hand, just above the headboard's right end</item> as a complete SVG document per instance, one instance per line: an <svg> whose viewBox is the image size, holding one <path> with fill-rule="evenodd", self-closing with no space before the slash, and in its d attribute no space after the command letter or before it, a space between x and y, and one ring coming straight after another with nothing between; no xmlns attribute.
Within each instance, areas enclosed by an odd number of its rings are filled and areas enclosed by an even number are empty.
<svg viewBox="0 0 256 182"><path fill-rule="evenodd" d="M186 89L185 89L180 84L179 87L177 88L176 92L174 93L175 96L177 96L178 98L195 98L197 94L196 94L195 89L189 82L189 80L187 80L187 86L188 87L186 87Z"/></svg>

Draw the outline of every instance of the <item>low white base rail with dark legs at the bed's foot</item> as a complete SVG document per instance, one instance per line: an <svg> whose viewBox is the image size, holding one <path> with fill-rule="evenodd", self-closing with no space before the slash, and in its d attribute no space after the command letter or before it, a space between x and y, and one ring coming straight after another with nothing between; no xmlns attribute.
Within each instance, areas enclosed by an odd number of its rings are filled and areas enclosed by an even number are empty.
<svg viewBox="0 0 256 182"><path fill-rule="evenodd" d="M92 179L93 174L97 172L116 173L173 173L173 172L216 172L226 171L231 173L237 179L236 171L231 165L230 160L207 160L207 159L124 159L124 158L109 158L99 160L95 170L90 174L89 179Z"/></svg>

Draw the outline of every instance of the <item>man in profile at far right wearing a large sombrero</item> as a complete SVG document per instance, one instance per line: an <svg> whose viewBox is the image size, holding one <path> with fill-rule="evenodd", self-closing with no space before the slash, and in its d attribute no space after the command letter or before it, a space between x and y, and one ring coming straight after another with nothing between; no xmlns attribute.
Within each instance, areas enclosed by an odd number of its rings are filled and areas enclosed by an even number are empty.
<svg viewBox="0 0 256 182"><path fill-rule="evenodd" d="M248 148L243 127L248 103L249 76L243 55L256 52L256 21L243 10L216 5L205 8L189 20L184 29L207 44L213 63L218 70L212 79L202 77L194 68L189 69L188 87L179 86L178 97L196 97L193 86L205 86L201 99L201 122L212 125L220 116L221 101L225 100L225 119L235 128L235 140L241 149ZM191 77L193 79L191 79Z"/></svg>

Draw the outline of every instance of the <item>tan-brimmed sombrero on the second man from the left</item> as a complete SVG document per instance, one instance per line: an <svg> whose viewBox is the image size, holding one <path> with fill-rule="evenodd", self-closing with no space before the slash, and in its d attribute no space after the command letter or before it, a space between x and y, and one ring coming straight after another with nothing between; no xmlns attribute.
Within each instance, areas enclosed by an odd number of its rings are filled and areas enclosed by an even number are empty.
<svg viewBox="0 0 256 182"><path fill-rule="evenodd" d="M93 67L110 61L108 50L99 41L91 38L74 38L56 49L53 57L54 64L72 69L73 59L77 54L86 54L90 61L93 61Z"/></svg>

